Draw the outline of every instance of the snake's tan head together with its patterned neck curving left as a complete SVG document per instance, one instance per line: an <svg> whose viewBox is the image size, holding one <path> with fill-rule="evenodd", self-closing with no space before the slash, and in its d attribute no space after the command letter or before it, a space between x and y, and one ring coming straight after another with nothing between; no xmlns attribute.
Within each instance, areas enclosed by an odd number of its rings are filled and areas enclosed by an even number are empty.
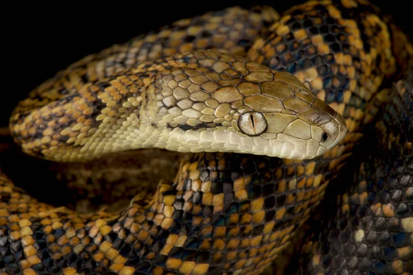
<svg viewBox="0 0 413 275"><path fill-rule="evenodd" d="M50 102L55 94L23 100L10 129L23 151L57 161L150 147L311 159L347 131L292 74L213 50L141 63Z"/></svg>

